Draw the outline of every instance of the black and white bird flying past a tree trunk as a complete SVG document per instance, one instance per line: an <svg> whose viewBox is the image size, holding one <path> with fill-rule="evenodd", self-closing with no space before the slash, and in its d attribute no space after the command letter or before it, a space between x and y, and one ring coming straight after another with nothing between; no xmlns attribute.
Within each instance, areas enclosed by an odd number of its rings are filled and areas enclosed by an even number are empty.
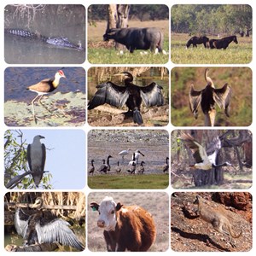
<svg viewBox="0 0 256 256"><path fill-rule="evenodd" d="M217 154L221 148L219 137L213 138L212 143L209 145L207 150L201 146L201 144L198 143L189 133L182 133L180 138L193 153L195 165L191 167L201 170L211 170L215 167L231 166L229 162L224 162L221 164L216 163Z"/></svg>

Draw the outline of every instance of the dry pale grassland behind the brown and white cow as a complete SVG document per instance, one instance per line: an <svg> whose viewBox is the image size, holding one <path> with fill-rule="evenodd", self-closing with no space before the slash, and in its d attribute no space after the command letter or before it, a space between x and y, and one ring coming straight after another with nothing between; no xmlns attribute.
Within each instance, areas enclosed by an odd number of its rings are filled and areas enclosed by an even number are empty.
<svg viewBox="0 0 256 256"><path fill-rule="evenodd" d="M137 205L150 212L154 218L156 239L149 252L165 252L169 248L169 196L164 192L93 192L88 195L88 248L92 252L106 252L103 230L97 227L98 212L90 209L90 202L100 203L105 196L125 206Z"/></svg>

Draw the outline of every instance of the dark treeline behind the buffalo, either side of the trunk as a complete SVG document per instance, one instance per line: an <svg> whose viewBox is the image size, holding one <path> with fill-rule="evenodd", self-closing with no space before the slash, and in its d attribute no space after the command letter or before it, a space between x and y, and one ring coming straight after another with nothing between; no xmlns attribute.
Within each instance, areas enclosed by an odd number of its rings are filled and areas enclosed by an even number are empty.
<svg viewBox="0 0 256 256"><path fill-rule="evenodd" d="M108 4L92 4L88 8L88 21L107 20ZM129 20L168 20L169 9L164 4L131 4Z"/></svg>

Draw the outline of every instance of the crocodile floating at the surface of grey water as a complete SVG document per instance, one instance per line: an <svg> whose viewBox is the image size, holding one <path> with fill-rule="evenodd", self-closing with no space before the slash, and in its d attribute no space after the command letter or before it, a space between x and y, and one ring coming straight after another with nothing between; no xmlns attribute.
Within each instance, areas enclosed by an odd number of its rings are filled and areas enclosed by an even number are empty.
<svg viewBox="0 0 256 256"><path fill-rule="evenodd" d="M63 37L44 37L38 32L30 32L23 29L16 29L16 28L6 28L4 29L5 33L19 36L21 38L29 38L34 40L40 40L46 44L52 44L57 47L63 47L63 48L71 48L71 49L77 49L77 50L84 50L84 47L81 46L81 44L73 44L71 43L67 38Z"/></svg>

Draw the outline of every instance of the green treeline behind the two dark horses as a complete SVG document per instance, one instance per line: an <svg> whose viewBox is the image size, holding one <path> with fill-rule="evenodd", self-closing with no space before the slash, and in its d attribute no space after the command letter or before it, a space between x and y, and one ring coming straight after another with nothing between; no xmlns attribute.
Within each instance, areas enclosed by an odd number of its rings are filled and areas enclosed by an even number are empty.
<svg viewBox="0 0 256 256"><path fill-rule="evenodd" d="M177 4L172 6L172 32L234 34L252 32L253 9L247 4Z"/></svg>

